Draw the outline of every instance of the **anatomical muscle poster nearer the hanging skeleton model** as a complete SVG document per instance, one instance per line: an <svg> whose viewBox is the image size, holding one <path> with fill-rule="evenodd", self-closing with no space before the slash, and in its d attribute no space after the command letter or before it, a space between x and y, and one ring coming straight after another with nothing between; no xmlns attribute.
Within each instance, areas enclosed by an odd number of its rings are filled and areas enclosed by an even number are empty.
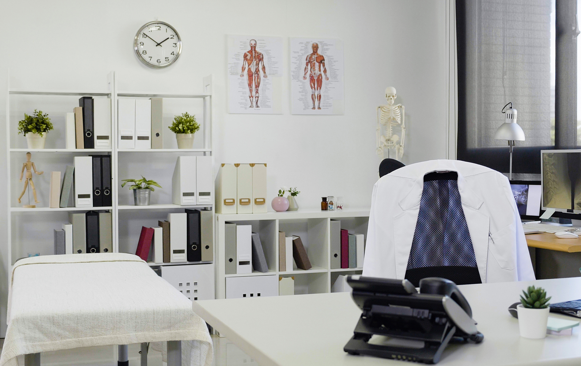
<svg viewBox="0 0 581 366"><path fill-rule="evenodd" d="M343 114L343 42L290 38L291 114Z"/></svg>

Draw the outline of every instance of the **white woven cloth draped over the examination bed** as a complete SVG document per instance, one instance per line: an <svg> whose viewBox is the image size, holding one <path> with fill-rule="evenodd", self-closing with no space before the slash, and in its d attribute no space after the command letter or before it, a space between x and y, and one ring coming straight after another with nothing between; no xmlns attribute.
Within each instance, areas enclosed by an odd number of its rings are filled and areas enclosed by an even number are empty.
<svg viewBox="0 0 581 366"><path fill-rule="evenodd" d="M192 302L136 255L44 255L12 268L0 366L18 365L21 354L161 341L188 341L182 365L212 363Z"/></svg>

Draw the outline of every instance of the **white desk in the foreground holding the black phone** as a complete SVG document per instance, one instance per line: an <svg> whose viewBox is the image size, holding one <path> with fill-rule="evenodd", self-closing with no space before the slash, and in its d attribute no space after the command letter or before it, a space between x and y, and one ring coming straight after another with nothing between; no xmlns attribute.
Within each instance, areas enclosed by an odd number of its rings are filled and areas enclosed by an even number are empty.
<svg viewBox="0 0 581 366"><path fill-rule="evenodd" d="M507 308L530 284L544 287L554 302L581 299L581 277L460 286L485 338L479 345L449 345L439 364L580 365L580 327L571 336L519 336ZM260 366L402 365L343 352L361 314L347 292L194 301L193 310Z"/></svg>

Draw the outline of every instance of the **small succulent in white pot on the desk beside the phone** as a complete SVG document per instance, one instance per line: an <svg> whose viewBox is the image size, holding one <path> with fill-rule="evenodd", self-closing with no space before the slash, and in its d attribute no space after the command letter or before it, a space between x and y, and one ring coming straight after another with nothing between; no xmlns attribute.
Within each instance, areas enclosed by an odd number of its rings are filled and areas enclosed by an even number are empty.
<svg viewBox="0 0 581 366"><path fill-rule="evenodd" d="M521 303L517 305L518 328L522 337L545 338L550 299L542 287L529 286L526 292L522 291Z"/></svg>

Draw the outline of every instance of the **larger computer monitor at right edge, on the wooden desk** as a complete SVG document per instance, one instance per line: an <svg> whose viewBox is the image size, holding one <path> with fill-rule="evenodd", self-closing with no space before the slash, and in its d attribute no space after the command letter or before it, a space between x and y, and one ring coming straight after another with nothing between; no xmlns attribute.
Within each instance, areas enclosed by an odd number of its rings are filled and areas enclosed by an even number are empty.
<svg viewBox="0 0 581 366"><path fill-rule="evenodd" d="M581 214L581 149L541 150L543 210Z"/></svg>

